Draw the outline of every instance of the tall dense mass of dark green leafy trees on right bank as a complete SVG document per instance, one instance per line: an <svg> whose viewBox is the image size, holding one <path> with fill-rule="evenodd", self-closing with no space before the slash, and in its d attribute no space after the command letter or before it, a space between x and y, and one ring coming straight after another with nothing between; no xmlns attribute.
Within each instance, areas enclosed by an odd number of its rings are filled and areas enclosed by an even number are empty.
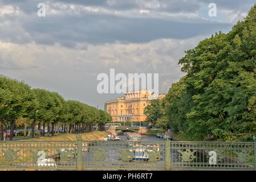
<svg viewBox="0 0 256 182"><path fill-rule="evenodd" d="M164 100L146 107L148 120L187 137L249 140L256 134L256 5L228 34L185 52L187 73ZM155 118L154 118L155 117Z"/></svg>

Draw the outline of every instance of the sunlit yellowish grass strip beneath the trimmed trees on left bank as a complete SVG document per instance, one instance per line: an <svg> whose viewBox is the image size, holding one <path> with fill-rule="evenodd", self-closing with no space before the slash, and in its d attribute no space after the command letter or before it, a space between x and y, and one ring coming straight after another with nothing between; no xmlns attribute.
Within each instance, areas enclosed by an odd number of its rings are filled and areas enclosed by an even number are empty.
<svg viewBox="0 0 256 182"><path fill-rule="evenodd" d="M76 135L78 134L64 134L64 135L57 135L53 137L39 137L39 138L26 138L26 139L17 139L18 141L22 140L76 140ZM94 131L88 133L80 133L82 135L83 140L96 140L97 137L106 137L108 135L105 131Z"/></svg>

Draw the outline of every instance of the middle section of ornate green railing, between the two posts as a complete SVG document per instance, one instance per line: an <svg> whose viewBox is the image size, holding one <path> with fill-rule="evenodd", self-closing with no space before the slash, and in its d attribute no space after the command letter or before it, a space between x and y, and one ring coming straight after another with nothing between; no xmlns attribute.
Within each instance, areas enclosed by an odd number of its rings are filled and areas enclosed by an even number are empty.
<svg viewBox="0 0 256 182"><path fill-rule="evenodd" d="M165 168L164 142L90 142L83 155L84 169Z"/></svg>

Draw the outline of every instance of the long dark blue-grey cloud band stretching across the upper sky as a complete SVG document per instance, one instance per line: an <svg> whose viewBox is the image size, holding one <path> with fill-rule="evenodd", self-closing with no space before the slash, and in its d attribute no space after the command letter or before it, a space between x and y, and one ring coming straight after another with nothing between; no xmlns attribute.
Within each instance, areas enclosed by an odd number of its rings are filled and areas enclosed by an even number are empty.
<svg viewBox="0 0 256 182"><path fill-rule="evenodd" d="M22 28L38 44L104 44L116 41L145 43L161 38L187 39L228 31L232 24L216 22L177 22L154 18L124 18L113 15L58 16L20 19ZM10 28L10 27L9 27ZM4 31L4 30L2 30ZM6 33L4 33L6 34ZM1 39L4 39L0 35Z"/></svg>

